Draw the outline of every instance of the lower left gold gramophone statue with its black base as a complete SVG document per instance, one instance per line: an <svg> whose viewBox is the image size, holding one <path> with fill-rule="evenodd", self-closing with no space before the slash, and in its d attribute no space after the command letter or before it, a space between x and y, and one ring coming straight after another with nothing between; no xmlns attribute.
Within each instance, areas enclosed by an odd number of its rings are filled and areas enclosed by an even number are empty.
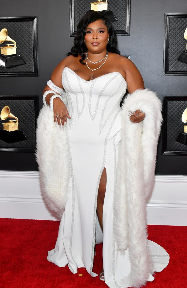
<svg viewBox="0 0 187 288"><path fill-rule="evenodd" d="M10 107L5 106L1 110L1 120L7 118L15 118L15 120L9 120L3 123L3 130L0 130L0 139L6 143L14 143L22 140L26 140L24 133L18 129L18 118L10 112Z"/></svg>

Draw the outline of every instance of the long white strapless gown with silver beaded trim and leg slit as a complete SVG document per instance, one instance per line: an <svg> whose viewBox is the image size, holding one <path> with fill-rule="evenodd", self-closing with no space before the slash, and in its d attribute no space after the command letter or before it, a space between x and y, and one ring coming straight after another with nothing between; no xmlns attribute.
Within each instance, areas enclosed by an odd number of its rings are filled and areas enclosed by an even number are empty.
<svg viewBox="0 0 187 288"><path fill-rule="evenodd" d="M71 179L65 211L60 221L55 248L48 252L50 262L72 273L85 267L91 276L95 244L103 242L105 283L110 288L131 287L122 278L131 270L128 249L125 256L116 249L113 233L113 196L121 140L120 102L127 83L119 72L112 72L86 81L70 68L62 73L68 112L67 130L71 151ZM107 183L103 207L103 232L97 214L97 193L102 171L106 168ZM156 272L169 262L169 255L160 245L147 240ZM153 281L151 274L147 281Z"/></svg>

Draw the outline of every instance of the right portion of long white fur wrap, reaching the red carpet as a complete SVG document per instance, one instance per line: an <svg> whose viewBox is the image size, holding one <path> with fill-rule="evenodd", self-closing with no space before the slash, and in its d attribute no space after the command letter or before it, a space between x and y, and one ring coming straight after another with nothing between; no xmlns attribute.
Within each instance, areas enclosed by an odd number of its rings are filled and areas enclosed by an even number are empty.
<svg viewBox="0 0 187 288"><path fill-rule="evenodd" d="M145 118L132 123L128 111L142 110ZM118 250L128 248L131 273L125 279L140 287L154 269L147 245L146 201L154 183L162 105L156 93L138 89L127 94L122 106L121 142L114 193L114 233Z"/></svg>

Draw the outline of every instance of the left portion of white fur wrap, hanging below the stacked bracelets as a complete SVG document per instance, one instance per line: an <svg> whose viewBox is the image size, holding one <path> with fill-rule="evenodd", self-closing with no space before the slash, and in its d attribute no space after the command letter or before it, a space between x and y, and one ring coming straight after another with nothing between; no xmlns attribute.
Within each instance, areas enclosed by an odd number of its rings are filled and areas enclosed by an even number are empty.
<svg viewBox="0 0 187 288"><path fill-rule="evenodd" d="M60 220L69 192L70 153L67 131L54 123L53 115L49 106L43 105L37 118L35 156L44 202Z"/></svg>

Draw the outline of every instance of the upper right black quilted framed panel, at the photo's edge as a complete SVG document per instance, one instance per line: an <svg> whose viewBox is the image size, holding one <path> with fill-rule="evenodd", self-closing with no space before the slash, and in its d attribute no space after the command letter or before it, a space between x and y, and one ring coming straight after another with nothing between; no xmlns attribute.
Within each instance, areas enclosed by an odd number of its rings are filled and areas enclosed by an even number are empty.
<svg viewBox="0 0 187 288"><path fill-rule="evenodd" d="M164 76L187 76L187 64L178 61L186 50L184 31L187 13L165 13L164 29Z"/></svg>

